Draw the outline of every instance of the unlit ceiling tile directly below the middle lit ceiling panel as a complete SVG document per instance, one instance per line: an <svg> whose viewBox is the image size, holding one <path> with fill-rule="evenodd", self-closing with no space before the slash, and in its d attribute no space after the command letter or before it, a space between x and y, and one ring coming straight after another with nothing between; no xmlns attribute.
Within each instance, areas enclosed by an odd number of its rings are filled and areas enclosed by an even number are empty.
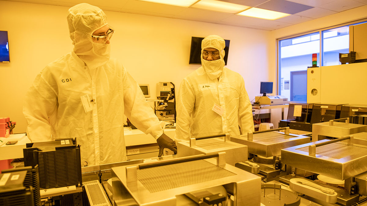
<svg viewBox="0 0 367 206"><path fill-rule="evenodd" d="M215 12L215 11L207 11L201 10L197 8L185 8L183 11L178 12L177 16L181 17L191 17L191 18L198 18L198 19L209 19L216 21L221 21L222 19L228 18L229 16L233 16L234 14L222 13L222 12Z"/></svg>

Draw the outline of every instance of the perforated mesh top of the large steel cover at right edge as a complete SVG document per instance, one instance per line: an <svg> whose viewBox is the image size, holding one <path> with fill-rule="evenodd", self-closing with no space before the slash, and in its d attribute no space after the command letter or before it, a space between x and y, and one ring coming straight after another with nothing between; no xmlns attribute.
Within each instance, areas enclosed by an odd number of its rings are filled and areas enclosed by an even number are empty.
<svg viewBox="0 0 367 206"><path fill-rule="evenodd" d="M298 148L297 150L308 152L308 146ZM352 154L357 154L359 152L367 152L367 148L341 143L331 143L316 147L316 154L331 157L334 159L341 159L344 157L348 157Z"/></svg>

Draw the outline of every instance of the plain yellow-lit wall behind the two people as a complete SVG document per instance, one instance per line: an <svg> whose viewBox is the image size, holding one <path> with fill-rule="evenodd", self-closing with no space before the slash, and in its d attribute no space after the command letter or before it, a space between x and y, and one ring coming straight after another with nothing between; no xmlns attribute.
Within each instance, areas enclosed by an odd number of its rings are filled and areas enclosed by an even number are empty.
<svg viewBox="0 0 367 206"><path fill-rule="evenodd" d="M66 23L68 7L0 1L0 30L8 31L10 63L0 63L0 117L17 122L15 133L26 131L23 97L37 73L73 48ZM230 40L228 65L240 73L250 100L259 95L260 81L269 81L269 31L122 12L105 11L116 33L111 55L123 62L141 84L173 82L199 65L189 65L192 36L218 34ZM113 108L111 108L113 109Z"/></svg>

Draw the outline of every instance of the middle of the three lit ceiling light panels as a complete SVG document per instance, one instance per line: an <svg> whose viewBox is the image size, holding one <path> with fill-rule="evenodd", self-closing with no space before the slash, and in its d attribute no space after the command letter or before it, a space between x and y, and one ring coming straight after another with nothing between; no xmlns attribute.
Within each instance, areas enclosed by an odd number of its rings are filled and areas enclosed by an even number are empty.
<svg viewBox="0 0 367 206"><path fill-rule="evenodd" d="M218 0L201 0L197 2L196 4L192 5L191 7L201 8L201 9L211 10L211 11L226 12L230 14L236 14L237 12L250 8L245 5L233 4L233 3L229 3L225 1L218 1Z"/></svg>

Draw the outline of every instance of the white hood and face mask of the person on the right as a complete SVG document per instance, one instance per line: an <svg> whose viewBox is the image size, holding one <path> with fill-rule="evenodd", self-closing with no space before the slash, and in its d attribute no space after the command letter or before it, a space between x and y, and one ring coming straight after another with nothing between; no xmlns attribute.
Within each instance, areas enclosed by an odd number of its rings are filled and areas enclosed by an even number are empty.
<svg viewBox="0 0 367 206"><path fill-rule="evenodd" d="M222 37L218 35L209 35L201 41L201 66L203 66L204 70L206 71L207 75L211 80L218 78L221 76L223 72L223 67L225 65L224 62L224 48L225 48L225 41ZM220 59L208 61L203 59L203 51L206 48L215 48L219 51Z"/></svg>

